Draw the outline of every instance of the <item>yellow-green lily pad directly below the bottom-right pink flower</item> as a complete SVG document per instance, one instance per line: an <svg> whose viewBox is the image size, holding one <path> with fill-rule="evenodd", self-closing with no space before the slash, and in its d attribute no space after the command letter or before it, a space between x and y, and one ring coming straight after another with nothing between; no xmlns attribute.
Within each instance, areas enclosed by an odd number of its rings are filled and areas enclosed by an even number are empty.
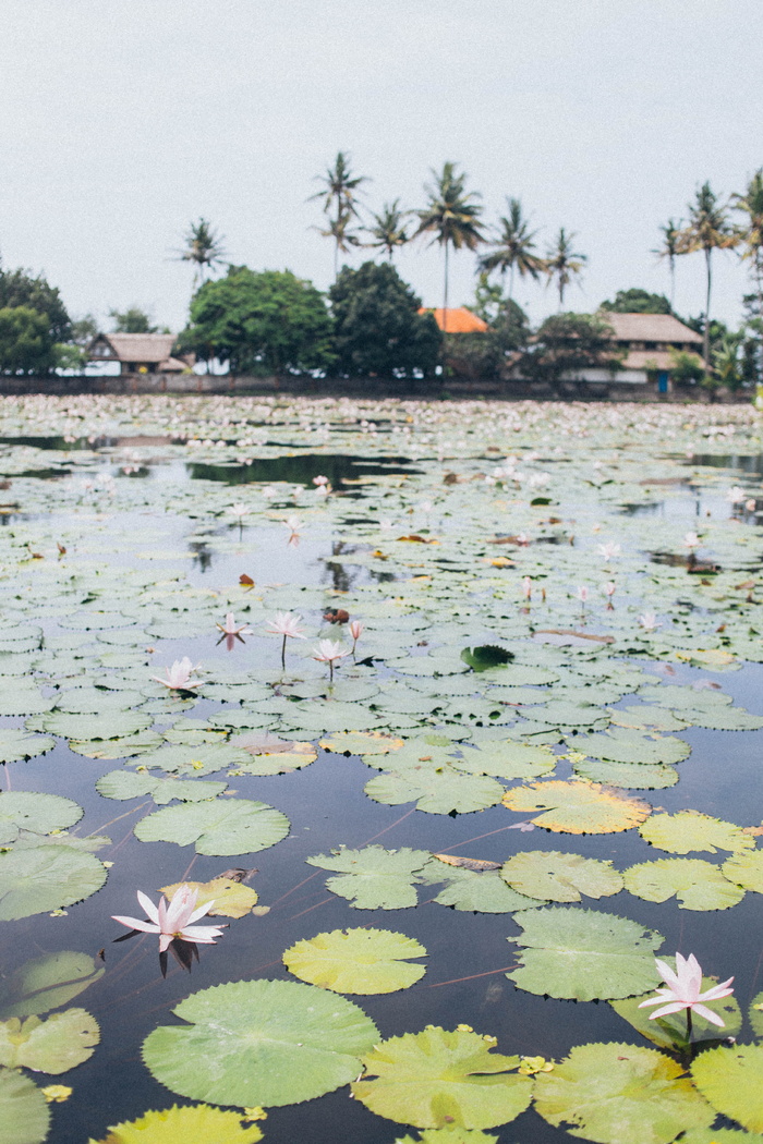
<svg viewBox="0 0 763 1144"><path fill-rule="evenodd" d="M597 1144L668 1144L714 1120L679 1064L617 1043L578 1044L554 1072L540 1073L535 1109L555 1128Z"/></svg>

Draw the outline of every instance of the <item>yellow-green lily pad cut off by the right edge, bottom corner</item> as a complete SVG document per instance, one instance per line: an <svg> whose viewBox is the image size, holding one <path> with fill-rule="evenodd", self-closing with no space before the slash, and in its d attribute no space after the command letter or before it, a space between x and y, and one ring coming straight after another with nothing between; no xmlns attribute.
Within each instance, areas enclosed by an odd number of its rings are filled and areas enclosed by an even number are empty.
<svg viewBox="0 0 763 1144"><path fill-rule="evenodd" d="M707 1049L692 1062L691 1074L716 1112L763 1133L763 1044Z"/></svg>

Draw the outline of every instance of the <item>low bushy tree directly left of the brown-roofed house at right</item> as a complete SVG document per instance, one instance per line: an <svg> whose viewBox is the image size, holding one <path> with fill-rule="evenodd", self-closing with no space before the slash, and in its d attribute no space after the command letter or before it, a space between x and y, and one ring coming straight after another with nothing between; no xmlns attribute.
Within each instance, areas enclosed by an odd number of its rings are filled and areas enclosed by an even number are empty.
<svg viewBox="0 0 763 1144"><path fill-rule="evenodd" d="M556 384L564 374L606 366L619 368L613 329L601 315L557 313L547 318L519 360L522 376Z"/></svg>

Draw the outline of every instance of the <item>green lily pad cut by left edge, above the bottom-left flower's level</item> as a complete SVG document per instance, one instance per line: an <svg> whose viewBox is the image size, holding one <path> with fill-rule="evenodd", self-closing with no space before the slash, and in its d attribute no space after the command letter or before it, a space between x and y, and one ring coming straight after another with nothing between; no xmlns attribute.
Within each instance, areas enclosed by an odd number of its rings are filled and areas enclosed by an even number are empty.
<svg viewBox="0 0 763 1144"><path fill-rule="evenodd" d="M0 853L0 921L29 917L89 898L106 880L87 851L40 845Z"/></svg>

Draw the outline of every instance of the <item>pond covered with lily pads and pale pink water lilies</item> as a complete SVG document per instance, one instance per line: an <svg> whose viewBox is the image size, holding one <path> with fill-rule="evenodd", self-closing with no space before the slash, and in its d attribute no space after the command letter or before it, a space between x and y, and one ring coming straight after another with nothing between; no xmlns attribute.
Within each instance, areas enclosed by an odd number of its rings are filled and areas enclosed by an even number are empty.
<svg viewBox="0 0 763 1144"><path fill-rule="evenodd" d="M762 1139L762 437L0 399L8 1139Z"/></svg>

